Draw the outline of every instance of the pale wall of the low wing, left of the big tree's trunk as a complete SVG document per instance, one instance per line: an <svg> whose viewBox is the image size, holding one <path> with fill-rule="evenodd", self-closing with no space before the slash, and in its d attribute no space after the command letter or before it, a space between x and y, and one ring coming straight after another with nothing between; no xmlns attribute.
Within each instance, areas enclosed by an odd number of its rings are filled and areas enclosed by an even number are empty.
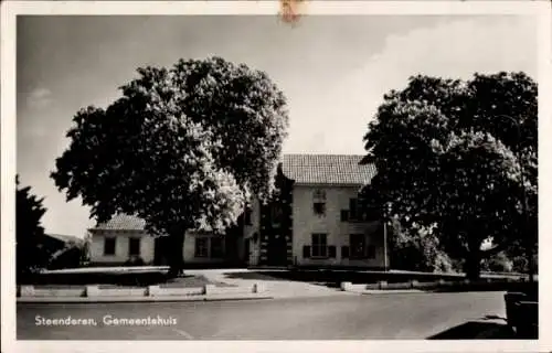
<svg viewBox="0 0 552 353"><path fill-rule="evenodd" d="M106 237L115 237L115 255L104 255ZM94 232L91 245L91 263L96 264L123 264L129 259L128 243L130 237L140 238L140 257L146 264L153 261L153 237L142 232Z"/></svg>

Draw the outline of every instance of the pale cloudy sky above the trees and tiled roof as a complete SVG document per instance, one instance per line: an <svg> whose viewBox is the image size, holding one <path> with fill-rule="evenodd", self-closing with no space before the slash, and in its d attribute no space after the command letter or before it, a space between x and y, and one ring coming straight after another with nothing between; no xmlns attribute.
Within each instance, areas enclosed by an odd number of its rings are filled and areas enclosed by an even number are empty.
<svg viewBox="0 0 552 353"><path fill-rule="evenodd" d="M505 15L19 17L17 171L44 197L46 233L94 225L49 176L75 113L106 107L145 65L222 56L266 72L287 97L285 153L363 153L383 95L412 75L469 78L523 71L537 79L533 18Z"/></svg>

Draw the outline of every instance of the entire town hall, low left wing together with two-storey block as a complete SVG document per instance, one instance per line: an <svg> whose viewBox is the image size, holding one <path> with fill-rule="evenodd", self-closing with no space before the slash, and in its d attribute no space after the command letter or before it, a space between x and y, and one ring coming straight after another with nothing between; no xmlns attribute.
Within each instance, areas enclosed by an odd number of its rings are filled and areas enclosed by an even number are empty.
<svg viewBox="0 0 552 353"><path fill-rule="evenodd" d="M376 212L359 207L359 189L375 174L362 156L285 154L268 204L254 200L231 235L188 233L184 263L214 266L388 266L385 227ZM362 212L361 212L362 210ZM119 215L91 229L92 263L125 264L140 257L163 265L163 238L144 221Z"/></svg>

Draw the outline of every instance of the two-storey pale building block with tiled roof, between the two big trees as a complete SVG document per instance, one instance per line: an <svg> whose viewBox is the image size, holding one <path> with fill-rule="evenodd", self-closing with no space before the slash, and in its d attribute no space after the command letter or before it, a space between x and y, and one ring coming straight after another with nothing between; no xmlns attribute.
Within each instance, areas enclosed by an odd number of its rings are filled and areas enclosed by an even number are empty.
<svg viewBox="0 0 552 353"><path fill-rule="evenodd" d="M248 263L268 266L386 267L385 227L359 207L358 192L375 168L362 156L286 154L279 196L261 206L259 237L247 237ZM362 210L362 213L361 213Z"/></svg>

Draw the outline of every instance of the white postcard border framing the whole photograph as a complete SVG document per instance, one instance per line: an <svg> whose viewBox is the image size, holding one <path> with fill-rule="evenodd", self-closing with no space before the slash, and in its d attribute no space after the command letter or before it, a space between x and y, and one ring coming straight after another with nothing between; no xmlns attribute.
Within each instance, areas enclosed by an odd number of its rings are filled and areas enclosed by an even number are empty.
<svg viewBox="0 0 552 353"><path fill-rule="evenodd" d="M321 14L532 14L540 23L539 40L539 173L540 173L540 341L14 341L14 190L15 174L15 15L17 14L267 14L276 15L278 1L3 1L1 3L1 261L2 261L2 352L118 352L184 350L252 352L541 352L552 349L545 332L552 332L550 299L552 265L546 235L552 234L548 220L551 165L546 151L552 150L551 10L549 1L308 1L301 7L308 15ZM9 324L12 323L12 324ZM123 346L121 346L123 345Z"/></svg>

